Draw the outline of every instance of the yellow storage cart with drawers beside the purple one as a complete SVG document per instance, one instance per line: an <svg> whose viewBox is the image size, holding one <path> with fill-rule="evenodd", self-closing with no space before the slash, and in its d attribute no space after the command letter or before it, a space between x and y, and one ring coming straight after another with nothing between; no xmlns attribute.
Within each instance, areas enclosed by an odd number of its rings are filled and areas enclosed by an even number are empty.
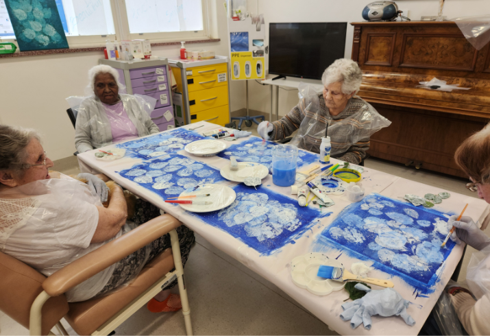
<svg viewBox="0 0 490 336"><path fill-rule="evenodd" d="M224 126L230 123L228 58L180 60L169 58L177 89L174 93L177 126L209 121Z"/></svg>

